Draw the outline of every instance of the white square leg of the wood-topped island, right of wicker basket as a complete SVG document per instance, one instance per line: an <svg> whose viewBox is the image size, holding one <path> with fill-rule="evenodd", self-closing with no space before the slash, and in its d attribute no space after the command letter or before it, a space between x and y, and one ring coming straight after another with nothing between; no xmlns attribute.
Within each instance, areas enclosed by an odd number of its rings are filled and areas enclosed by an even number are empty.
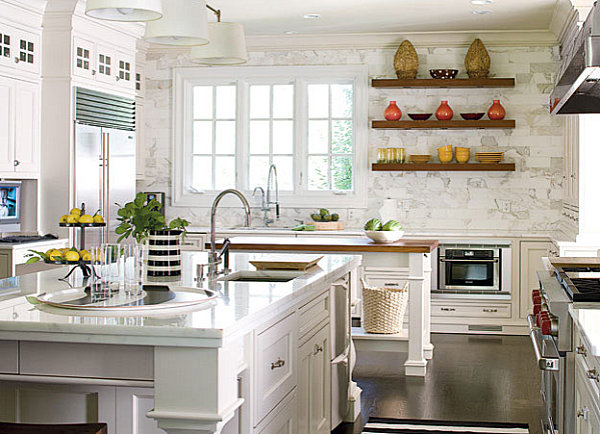
<svg viewBox="0 0 600 434"><path fill-rule="evenodd" d="M409 253L408 308L410 319L408 327L408 359L404 363L405 374L424 377L425 360L425 309L426 297L430 291L425 288L425 257L423 253Z"/></svg>

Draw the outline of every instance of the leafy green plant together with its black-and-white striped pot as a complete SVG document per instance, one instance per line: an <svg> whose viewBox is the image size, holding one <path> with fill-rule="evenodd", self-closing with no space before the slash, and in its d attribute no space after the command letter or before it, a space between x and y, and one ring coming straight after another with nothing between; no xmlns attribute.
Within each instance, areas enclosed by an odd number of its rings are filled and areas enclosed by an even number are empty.
<svg viewBox="0 0 600 434"><path fill-rule="evenodd" d="M148 276L180 276L180 241L190 222L177 217L167 224L162 204L156 199L148 200L144 193L138 193L133 202L117 205L118 241L129 237L138 243L148 240Z"/></svg>

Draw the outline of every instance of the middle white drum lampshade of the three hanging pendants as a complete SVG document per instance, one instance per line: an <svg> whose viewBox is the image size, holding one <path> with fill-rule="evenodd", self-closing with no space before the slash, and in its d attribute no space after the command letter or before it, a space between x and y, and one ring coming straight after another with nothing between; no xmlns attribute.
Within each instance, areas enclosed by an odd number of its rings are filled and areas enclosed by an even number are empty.
<svg viewBox="0 0 600 434"><path fill-rule="evenodd" d="M146 24L144 39L162 45L208 44L206 2L165 0L163 17Z"/></svg>

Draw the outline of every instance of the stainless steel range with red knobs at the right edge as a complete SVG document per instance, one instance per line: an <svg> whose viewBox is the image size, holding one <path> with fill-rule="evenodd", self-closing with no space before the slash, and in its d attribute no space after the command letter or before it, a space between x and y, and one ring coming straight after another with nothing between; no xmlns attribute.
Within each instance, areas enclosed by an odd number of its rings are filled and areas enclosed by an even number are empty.
<svg viewBox="0 0 600 434"><path fill-rule="evenodd" d="M545 433L575 432L575 355L569 306L600 302L600 267L556 267L539 272L540 289L532 291L529 334L542 370Z"/></svg>

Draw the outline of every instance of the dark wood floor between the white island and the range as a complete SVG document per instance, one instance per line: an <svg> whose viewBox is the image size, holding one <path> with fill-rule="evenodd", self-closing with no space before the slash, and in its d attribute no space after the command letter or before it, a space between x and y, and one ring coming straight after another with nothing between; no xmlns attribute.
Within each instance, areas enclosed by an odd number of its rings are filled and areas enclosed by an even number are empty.
<svg viewBox="0 0 600 434"><path fill-rule="evenodd" d="M358 353L362 415L335 434L360 433L369 416L528 423L540 427L540 371L526 336L435 334L425 379L405 377L405 354ZM364 421L364 422L363 422Z"/></svg>

